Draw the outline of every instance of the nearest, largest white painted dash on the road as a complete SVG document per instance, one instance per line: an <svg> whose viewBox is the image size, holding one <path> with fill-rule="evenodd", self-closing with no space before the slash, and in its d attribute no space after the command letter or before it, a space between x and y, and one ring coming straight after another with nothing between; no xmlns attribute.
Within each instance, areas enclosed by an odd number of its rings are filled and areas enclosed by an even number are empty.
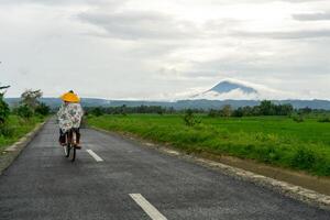
<svg viewBox="0 0 330 220"><path fill-rule="evenodd" d="M130 194L132 199L147 213L152 220L167 220L153 205L151 205L141 194Z"/></svg>

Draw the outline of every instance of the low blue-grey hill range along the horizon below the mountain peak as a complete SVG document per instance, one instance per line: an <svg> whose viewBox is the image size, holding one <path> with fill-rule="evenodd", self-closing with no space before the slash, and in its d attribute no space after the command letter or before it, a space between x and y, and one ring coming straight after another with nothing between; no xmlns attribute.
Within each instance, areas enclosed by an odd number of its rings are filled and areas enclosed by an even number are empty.
<svg viewBox="0 0 330 220"><path fill-rule="evenodd" d="M19 98L6 98L6 101L11 106L19 103ZM42 98L42 102L56 109L61 106L61 100L58 98ZM330 101L328 100L273 100L276 103L290 103L294 108L300 109L309 107L311 109L324 109L330 110ZM173 107L174 109L218 109L226 105L230 105L233 108L244 107L244 106L257 106L260 101L257 100L207 100L207 99L196 99L196 100L178 100L178 101L139 101L139 100L106 100L106 99L94 99L94 98L82 98L81 105L84 107L139 107L139 106L162 106L165 108Z"/></svg>

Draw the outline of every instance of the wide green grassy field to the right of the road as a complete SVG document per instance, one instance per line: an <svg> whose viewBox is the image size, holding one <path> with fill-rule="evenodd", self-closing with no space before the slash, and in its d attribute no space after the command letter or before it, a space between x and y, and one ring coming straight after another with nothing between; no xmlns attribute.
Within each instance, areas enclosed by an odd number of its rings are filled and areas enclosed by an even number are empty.
<svg viewBox="0 0 330 220"><path fill-rule="evenodd" d="M199 118L201 123L195 127L185 125L182 116L157 114L89 117L88 123L168 143L186 152L252 158L330 176L330 123L317 119L297 123L286 117Z"/></svg>

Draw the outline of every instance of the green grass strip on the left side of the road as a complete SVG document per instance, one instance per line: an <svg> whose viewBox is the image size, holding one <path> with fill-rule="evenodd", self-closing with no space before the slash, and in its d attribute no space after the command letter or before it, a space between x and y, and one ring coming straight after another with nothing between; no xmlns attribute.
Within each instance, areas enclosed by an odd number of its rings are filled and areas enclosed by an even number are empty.
<svg viewBox="0 0 330 220"><path fill-rule="evenodd" d="M0 151L6 146L16 142L19 139L32 131L35 125L42 121L44 121L44 119L38 117L24 120L18 116L10 116L6 127L6 133L8 134L0 134Z"/></svg>

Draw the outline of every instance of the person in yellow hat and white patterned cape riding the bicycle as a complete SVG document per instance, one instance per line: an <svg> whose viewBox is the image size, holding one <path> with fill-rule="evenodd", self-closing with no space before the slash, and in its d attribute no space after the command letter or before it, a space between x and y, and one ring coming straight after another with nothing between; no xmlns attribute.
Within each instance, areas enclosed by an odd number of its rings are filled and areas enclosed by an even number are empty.
<svg viewBox="0 0 330 220"><path fill-rule="evenodd" d="M61 106L57 117L59 124L59 144L65 145L65 133L69 130L74 130L77 134L77 146L80 148L80 122L84 116L82 108L80 106L79 97L73 91L64 94L61 99L63 105Z"/></svg>

